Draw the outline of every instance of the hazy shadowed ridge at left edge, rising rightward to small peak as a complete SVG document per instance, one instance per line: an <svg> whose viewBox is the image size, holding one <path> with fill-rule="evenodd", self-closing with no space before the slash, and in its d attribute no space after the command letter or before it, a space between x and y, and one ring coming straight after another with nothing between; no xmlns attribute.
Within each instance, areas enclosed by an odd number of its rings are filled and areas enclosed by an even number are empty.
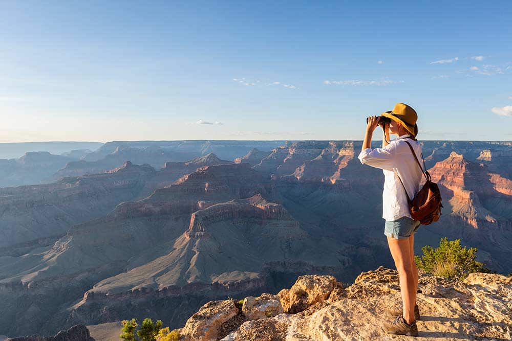
<svg viewBox="0 0 512 341"><path fill-rule="evenodd" d="M148 165L125 163L104 174L69 177L48 185L0 189L0 255L20 255L71 225L98 218L134 198L155 175Z"/></svg>

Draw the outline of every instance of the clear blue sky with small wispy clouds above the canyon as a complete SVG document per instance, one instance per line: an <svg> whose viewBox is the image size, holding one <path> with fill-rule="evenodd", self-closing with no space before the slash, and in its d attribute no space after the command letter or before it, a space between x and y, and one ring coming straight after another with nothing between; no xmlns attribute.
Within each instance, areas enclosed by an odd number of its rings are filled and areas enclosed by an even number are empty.
<svg viewBox="0 0 512 341"><path fill-rule="evenodd" d="M0 142L512 140L512 2L0 3ZM211 124L209 124L211 123ZM380 137L380 132L375 138Z"/></svg>

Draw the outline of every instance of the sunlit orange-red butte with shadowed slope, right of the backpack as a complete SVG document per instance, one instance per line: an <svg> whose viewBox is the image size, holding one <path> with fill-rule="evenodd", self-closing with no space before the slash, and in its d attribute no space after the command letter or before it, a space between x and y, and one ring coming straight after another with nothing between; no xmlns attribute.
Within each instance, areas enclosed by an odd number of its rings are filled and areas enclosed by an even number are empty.
<svg viewBox="0 0 512 341"><path fill-rule="evenodd" d="M443 234L493 253L493 267L510 271L512 181L456 152L429 172L446 203L438 223Z"/></svg>

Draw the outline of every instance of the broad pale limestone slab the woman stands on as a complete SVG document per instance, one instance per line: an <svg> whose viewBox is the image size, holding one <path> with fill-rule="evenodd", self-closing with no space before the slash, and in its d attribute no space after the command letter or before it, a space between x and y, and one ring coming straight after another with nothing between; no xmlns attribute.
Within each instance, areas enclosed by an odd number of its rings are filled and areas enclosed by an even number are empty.
<svg viewBox="0 0 512 341"><path fill-rule="evenodd" d="M470 274L464 282L420 276L418 337L422 341L512 339L511 284L512 278L495 274ZM386 307L400 300L395 270L379 267L363 272L344 290L332 302L329 297L295 314L247 321L222 341L410 339L381 329L388 321ZM279 295L291 297L291 291L283 289Z"/></svg>

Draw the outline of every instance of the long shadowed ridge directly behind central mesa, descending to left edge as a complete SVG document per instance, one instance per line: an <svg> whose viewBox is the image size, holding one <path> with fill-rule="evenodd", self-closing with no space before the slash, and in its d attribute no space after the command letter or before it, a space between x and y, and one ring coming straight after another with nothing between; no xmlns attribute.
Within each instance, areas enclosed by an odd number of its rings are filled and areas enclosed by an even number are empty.
<svg viewBox="0 0 512 341"><path fill-rule="evenodd" d="M127 163L100 175L129 173L131 168L137 167ZM69 316L67 310L59 314L59 306L82 297L105 278L167 255L195 211L255 193L271 197L272 188L248 164L203 167L144 200L120 203L104 217L72 226L52 247L33 249L23 257L0 257L0 312L5 317L0 330L27 331L27 326L12 325L15 318L30 319L34 331L61 328ZM64 288L65 294L58 294Z"/></svg>

